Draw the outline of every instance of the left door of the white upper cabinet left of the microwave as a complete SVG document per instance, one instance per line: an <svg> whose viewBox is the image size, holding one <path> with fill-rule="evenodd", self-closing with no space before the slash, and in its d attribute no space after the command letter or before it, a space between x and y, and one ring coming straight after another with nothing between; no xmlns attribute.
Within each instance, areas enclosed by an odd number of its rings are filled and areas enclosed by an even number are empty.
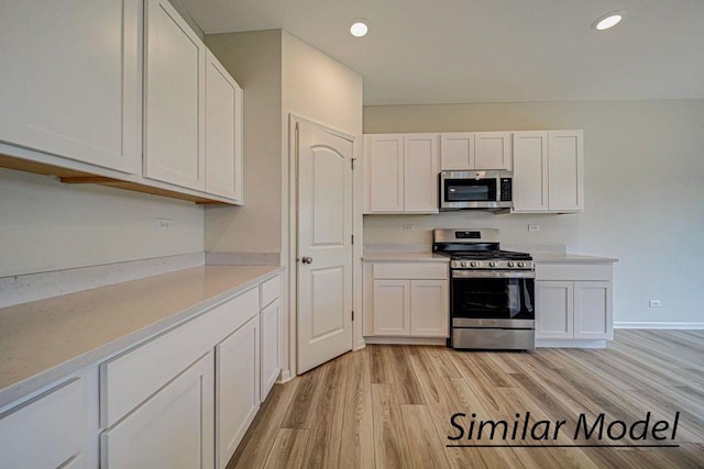
<svg viewBox="0 0 704 469"><path fill-rule="evenodd" d="M366 158L371 212L403 212L403 135L370 135Z"/></svg>

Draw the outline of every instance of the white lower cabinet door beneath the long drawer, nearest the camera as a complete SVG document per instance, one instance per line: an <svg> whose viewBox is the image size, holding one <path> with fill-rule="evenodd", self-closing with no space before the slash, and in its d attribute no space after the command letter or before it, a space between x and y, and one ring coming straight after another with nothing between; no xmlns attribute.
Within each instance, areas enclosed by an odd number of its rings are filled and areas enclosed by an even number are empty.
<svg viewBox="0 0 704 469"><path fill-rule="evenodd" d="M208 353L102 433L101 468L212 468L213 362Z"/></svg>

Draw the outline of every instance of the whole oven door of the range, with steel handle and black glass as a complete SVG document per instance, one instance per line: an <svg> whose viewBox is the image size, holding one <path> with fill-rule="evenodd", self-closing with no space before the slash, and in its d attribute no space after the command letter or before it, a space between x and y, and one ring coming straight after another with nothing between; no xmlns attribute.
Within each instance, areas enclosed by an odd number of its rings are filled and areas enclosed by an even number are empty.
<svg viewBox="0 0 704 469"><path fill-rule="evenodd" d="M454 327L534 328L535 272L453 270Z"/></svg>

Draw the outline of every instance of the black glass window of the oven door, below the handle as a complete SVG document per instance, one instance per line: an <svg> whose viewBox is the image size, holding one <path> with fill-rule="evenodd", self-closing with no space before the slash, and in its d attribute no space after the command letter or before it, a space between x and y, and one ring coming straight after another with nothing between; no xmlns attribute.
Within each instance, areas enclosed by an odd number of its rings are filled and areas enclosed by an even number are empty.
<svg viewBox="0 0 704 469"><path fill-rule="evenodd" d="M452 279L452 316L535 320L534 279Z"/></svg>

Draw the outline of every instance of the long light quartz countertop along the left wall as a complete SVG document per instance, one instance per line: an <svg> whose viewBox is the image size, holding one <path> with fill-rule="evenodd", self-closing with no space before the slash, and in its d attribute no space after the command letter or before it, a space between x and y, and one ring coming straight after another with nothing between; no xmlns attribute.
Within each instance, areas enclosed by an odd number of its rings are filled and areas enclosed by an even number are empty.
<svg viewBox="0 0 704 469"><path fill-rule="evenodd" d="M0 309L0 407L279 271L195 267Z"/></svg>

